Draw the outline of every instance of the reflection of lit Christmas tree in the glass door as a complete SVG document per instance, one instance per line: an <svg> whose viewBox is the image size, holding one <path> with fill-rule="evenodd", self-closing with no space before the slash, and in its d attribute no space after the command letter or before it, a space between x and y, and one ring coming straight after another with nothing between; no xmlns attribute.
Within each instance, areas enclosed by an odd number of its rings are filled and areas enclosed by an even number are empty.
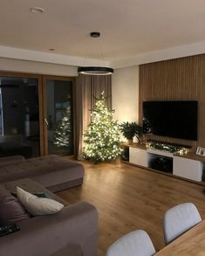
<svg viewBox="0 0 205 256"><path fill-rule="evenodd" d="M63 117L58 121L58 125L55 132L54 144L57 147L68 147L71 141L71 111L70 107L66 107Z"/></svg>

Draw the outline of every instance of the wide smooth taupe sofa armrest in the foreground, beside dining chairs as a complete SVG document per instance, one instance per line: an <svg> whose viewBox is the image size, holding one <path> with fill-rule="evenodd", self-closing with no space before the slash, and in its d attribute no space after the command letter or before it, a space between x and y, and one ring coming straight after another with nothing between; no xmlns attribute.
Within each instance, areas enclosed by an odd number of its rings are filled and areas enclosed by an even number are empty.
<svg viewBox="0 0 205 256"><path fill-rule="evenodd" d="M98 212L92 204L66 206L57 214L26 219L19 226L20 232L0 238L0 255L47 256L69 245L77 246L84 256L98 255Z"/></svg>

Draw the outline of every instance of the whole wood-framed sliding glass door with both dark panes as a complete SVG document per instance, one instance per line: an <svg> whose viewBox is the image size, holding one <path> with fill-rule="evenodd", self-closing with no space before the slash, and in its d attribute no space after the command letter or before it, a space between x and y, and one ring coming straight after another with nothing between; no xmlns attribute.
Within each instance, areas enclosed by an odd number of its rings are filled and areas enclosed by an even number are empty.
<svg viewBox="0 0 205 256"><path fill-rule="evenodd" d="M0 156L73 154L73 81L0 72Z"/></svg>

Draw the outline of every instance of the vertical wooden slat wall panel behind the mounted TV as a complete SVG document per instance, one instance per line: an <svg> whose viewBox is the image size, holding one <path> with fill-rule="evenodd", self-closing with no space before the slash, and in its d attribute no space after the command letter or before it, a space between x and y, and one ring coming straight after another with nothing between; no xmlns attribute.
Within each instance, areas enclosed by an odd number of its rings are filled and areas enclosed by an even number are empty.
<svg viewBox="0 0 205 256"><path fill-rule="evenodd" d="M205 147L205 54L140 65L140 123L146 100L198 100L198 141L152 135L151 138Z"/></svg>

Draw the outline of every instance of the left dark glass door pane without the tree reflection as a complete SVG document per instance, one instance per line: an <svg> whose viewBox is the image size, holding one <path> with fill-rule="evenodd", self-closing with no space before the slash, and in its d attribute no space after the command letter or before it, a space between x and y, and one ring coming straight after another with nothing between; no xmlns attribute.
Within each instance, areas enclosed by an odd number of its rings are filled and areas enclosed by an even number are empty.
<svg viewBox="0 0 205 256"><path fill-rule="evenodd" d="M0 77L0 156L40 155L38 79Z"/></svg>

